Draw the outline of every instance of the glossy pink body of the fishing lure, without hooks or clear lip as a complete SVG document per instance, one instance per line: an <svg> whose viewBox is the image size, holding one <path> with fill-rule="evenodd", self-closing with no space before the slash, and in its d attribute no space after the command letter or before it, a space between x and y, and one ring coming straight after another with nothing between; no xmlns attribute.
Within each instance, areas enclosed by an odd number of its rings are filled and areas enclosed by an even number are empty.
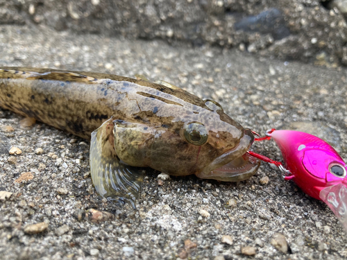
<svg viewBox="0 0 347 260"><path fill-rule="evenodd" d="M327 142L314 135L292 130L276 130L271 137L280 147L294 182L313 198L333 184L347 184L347 165Z"/></svg>

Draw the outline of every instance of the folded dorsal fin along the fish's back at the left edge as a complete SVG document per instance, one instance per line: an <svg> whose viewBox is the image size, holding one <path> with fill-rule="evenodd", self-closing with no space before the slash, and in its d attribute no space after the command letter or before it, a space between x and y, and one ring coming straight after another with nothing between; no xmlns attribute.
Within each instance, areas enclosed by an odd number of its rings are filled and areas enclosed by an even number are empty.
<svg viewBox="0 0 347 260"><path fill-rule="evenodd" d="M91 76L71 71L17 71L15 69L1 69L0 73L10 74L11 78L25 78L26 80L59 80L81 83L99 83L100 80ZM105 80L105 79L103 79Z"/></svg>

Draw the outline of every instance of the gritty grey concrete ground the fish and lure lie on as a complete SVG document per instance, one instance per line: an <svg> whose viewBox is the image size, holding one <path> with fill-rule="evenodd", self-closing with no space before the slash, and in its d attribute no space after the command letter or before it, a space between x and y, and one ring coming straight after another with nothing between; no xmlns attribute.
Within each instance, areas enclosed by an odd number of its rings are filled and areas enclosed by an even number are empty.
<svg viewBox="0 0 347 260"><path fill-rule="evenodd" d="M76 36L44 26L1 26L0 63L141 73L216 99L234 119L261 134L291 121L319 121L337 131L339 152L347 158L343 68L258 59L219 48ZM22 150L21 155L8 150L0 155L0 191L12 193L0 202L2 259L248 259L241 251L246 246L255 248L255 259L347 257L346 234L332 211L282 181L269 165L262 164L256 176L239 183L188 176L158 185L160 173L149 173L133 211L96 195L89 141L40 122L22 129L22 119L0 112L0 124L15 130L0 132L1 151L8 145ZM36 154L37 148L43 153ZM273 141L254 149L281 159ZM33 173L32 180L15 182L26 172ZM264 176L270 180L266 185L260 184ZM210 216L201 216L201 209ZM24 233L27 225L42 222L49 224L46 231ZM271 244L275 233L285 236L286 254ZM232 237L232 245L221 242L223 235Z"/></svg>

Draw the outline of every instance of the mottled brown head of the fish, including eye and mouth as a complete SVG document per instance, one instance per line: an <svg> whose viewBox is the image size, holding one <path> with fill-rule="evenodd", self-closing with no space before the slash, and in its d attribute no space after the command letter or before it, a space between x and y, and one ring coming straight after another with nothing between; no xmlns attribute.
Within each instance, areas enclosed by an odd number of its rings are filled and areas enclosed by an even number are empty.
<svg viewBox="0 0 347 260"><path fill-rule="evenodd" d="M195 174L223 181L245 180L257 171L260 162L246 154L253 133L225 114L217 102L160 108L135 135L124 139L122 150L115 128L117 155L124 162L169 175Z"/></svg>

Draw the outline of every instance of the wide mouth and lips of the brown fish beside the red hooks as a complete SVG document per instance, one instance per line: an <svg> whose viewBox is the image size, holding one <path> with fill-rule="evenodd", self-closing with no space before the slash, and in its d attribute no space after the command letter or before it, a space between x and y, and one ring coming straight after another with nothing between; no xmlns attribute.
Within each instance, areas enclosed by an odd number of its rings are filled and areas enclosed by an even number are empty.
<svg viewBox="0 0 347 260"><path fill-rule="evenodd" d="M245 129L237 147L214 159L196 176L223 182L239 182L253 176L260 166L260 160L247 153L253 141L253 133Z"/></svg>

